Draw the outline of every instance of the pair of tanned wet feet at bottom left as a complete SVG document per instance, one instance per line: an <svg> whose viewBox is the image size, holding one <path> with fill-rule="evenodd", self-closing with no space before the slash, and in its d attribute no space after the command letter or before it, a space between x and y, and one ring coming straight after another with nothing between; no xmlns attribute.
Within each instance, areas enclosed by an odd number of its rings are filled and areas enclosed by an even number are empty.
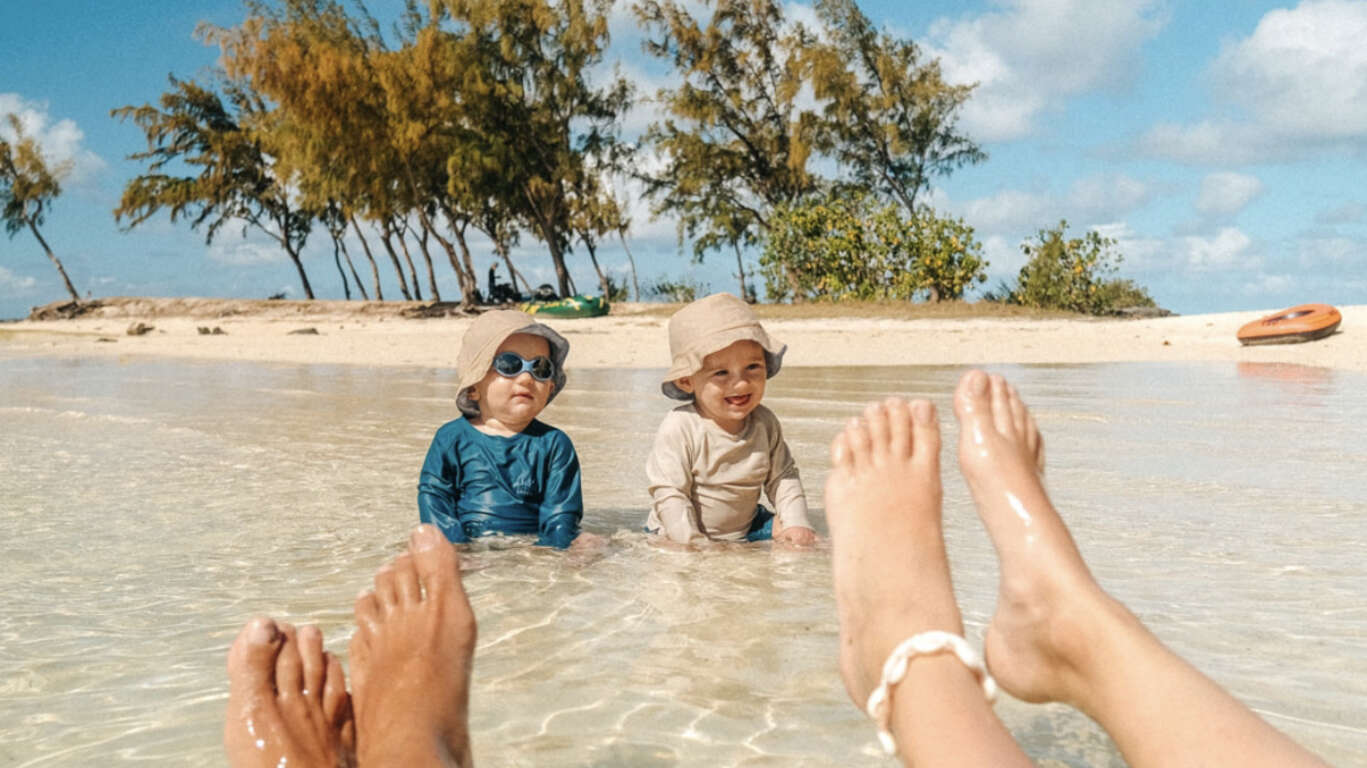
<svg viewBox="0 0 1367 768"><path fill-rule="evenodd" d="M223 743L234 768L474 764L474 612L455 549L418 526L355 601L351 693L317 627L256 618L228 650Z"/></svg>

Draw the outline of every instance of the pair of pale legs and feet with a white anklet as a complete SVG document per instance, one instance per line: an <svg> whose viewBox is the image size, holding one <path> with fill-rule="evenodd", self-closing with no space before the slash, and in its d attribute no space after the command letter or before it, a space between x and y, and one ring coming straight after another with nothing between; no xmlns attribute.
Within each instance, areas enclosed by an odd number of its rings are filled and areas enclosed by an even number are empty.
<svg viewBox="0 0 1367 768"><path fill-rule="evenodd" d="M986 671L950 585L934 406L871 404L831 443L841 676L884 746L905 765L1029 765L984 696L990 671L1020 700L1076 707L1136 768L1325 765L1102 590L1044 492L1035 420L1002 377L965 374L954 413L960 469L1001 560ZM890 659L899 645L909 653Z"/></svg>

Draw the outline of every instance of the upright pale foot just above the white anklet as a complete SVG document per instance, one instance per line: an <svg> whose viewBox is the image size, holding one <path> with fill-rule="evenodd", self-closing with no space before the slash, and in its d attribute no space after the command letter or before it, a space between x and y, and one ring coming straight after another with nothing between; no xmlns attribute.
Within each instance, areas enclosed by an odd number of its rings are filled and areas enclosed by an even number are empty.
<svg viewBox="0 0 1367 768"><path fill-rule="evenodd" d="M962 634L940 527L939 424L925 400L889 399L831 441L841 676L863 708L887 655L925 630Z"/></svg>

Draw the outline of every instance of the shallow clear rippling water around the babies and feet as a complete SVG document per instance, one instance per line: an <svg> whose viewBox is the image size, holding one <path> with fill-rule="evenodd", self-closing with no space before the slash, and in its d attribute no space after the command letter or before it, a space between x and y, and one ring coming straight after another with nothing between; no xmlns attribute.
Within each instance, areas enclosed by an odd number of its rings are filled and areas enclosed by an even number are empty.
<svg viewBox="0 0 1367 768"><path fill-rule="evenodd" d="M826 445L886 394L949 414L962 369L785 369L820 515ZM1103 585L1331 763L1367 763L1367 377L1286 365L1003 368ZM830 558L677 553L637 533L655 370L577 370L547 411L585 467L593 559L481 548L481 765L884 765L835 671ZM416 521L443 370L0 358L0 765L219 765L224 650L254 614L317 623ZM953 420L946 425L953 440ZM975 644L991 545L946 451ZM1117 659L1115 663L1124 663ZM998 705L1044 765L1120 765L1064 707Z"/></svg>

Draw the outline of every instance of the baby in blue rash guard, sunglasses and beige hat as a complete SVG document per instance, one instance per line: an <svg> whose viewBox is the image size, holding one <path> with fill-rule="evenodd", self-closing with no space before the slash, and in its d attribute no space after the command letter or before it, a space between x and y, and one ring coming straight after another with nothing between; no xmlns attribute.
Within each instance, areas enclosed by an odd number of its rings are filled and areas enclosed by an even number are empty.
<svg viewBox="0 0 1367 768"><path fill-rule="evenodd" d="M457 406L436 430L418 478L418 517L451 541L534 533L569 547L580 534L580 459L559 429L537 421L565 387L570 344L532 316L481 314L461 339Z"/></svg>

